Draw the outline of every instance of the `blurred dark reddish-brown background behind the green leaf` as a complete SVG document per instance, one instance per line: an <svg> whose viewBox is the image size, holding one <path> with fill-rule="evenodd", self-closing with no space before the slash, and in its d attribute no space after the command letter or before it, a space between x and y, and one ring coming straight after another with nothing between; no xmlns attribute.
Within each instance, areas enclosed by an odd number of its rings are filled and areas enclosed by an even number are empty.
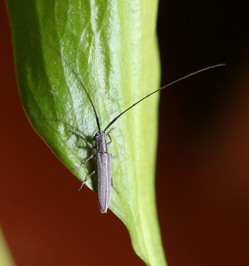
<svg viewBox="0 0 249 266"><path fill-rule="evenodd" d="M173 3L170 3L173 2ZM234 6L236 4L236 6ZM1 11L1 226L18 266L144 265L125 226L29 125ZM169 266L249 265L248 15L241 3L161 1L156 190ZM104 230L103 230L104 229Z"/></svg>

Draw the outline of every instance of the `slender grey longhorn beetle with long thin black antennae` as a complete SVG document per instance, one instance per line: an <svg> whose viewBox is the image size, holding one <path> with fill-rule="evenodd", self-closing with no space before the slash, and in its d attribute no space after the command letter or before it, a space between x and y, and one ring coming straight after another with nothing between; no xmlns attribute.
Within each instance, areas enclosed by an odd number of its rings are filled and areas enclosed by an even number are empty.
<svg viewBox="0 0 249 266"><path fill-rule="evenodd" d="M61 56L62 57L62 56ZM127 112L128 110L130 110L132 107L134 107L135 105L137 105L138 103L140 103L142 100L145 100L145 98L149 97L150 95L165 89L166 87L182 80L185 78L188 78L194 74L200 73L202 71L205 71L207 69L211 69L214 67L218 67L218 66L224 66L225 64L217 64L214 66L210 66L201 70L198 70L194 73L191 73L189 75L186 75L180 79L177 79L163 87L161 87L158 90L155 90L154 92L150 93L149 95L145 96L144 98L142 98L141 100L139 100L138 102L136 102L135 104L131 105L128 109L126 109L125 111L123 111L121 114L119 114L117 117L115 117L110 123L109 125L106 126L106 128L104 130L101 130L100 125L99 125L99 118L97 116L97 112L94 108L93 102L83 84L83 82L80 80L78 74L74 71L74 69L72 68L72 66L64 59L64 62L68 65L68 67L72 70L74 76L76 77L76 79L78 79L79 83L81 84L82 88L84 89L85 93L87 94L89 101L93 107L94 113L95 113L95 118L96 118L96 122L98 125L98 129L99 131L95 134L93 140L95 141L95 146L93 146L91 143L89 143L88 141L86 141L84 139L83 136L78 135L77 133L75 133L74 131L69 130L72 134L74 134L75 136L80 137L81 139L83 139L83 141L85 141L85 143L90 147L90 148L95 148L96 149L96 155L91 155L86 161L84 161L83 164L74 167L74 169L78 169L81 166L84 166L90 159L92 159L93 157L96 157L96 171L97 171L97 196L98 196L98 202L99 202L99 208L100 211L102 213L107 212L107 209L109 207L110 204L110 200L111 200L111 186L115 189L115 191L118 193L116 187L114 187L113 184L113 179L111 176L111 157L117 157L117 156L112 156L111 153L108 152L107 146L109 146L112 143L112 139L110 136L110 133L114 130L111 129L109 131L109 133L107 134L110 141L107 143L106 142L106 130L121 116L123 115L125 112ZM86 177L86 179L84 180L84 182L81 184L79 190L83 187L83 185L85 184L85 182L96 172L95 170L88 176Z"/></svg>

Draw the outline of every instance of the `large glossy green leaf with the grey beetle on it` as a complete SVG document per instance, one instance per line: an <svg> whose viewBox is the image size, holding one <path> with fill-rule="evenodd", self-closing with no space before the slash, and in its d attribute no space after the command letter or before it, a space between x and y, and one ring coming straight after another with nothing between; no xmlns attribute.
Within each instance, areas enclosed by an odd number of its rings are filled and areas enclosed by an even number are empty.
<svg viewBox="0 0 249 266"><path fill-rule="evenodd" d="M33 128L81 181L95 169L92 154L73 130L92 143L98 131L130 105L159 88L157 1L8 0L19 94ZM57 52L56 52L57 51ZM59 55L58 55L59 54ZM63 59L64 58L64 59ZM109 208L125 223L135 252L147 265L166 265L155 203L159 94L115 123L109 151ZM96 176L87 186L96 191Z"/></svg>

